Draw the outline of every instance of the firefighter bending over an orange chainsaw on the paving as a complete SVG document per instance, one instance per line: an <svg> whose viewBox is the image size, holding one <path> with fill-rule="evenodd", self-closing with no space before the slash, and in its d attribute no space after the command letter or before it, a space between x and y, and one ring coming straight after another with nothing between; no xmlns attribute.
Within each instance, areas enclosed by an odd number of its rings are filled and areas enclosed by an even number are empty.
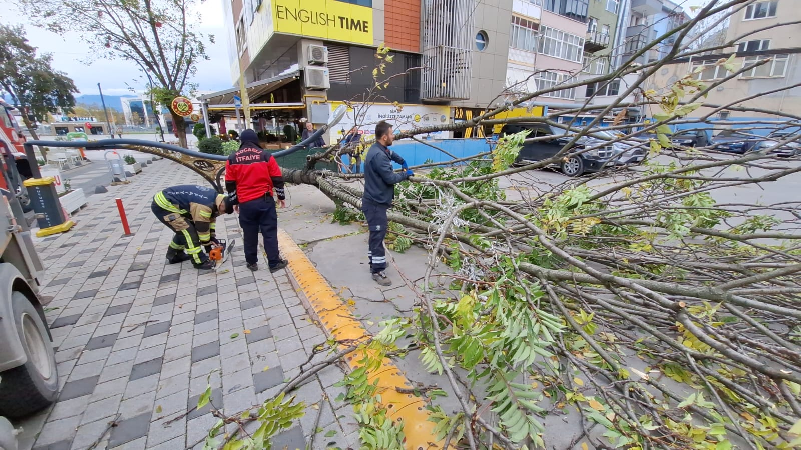
<svg viewBox="0 0 801 450"><path fill-rule="evenodd" d="M234 211L226 195L203 186L167 187L155 195L151 211L175 232L167 250L167 263L191 261L199 271L214 269L208 254L212 246L223 245L215 236L215 221L219 215Z"/></svg>

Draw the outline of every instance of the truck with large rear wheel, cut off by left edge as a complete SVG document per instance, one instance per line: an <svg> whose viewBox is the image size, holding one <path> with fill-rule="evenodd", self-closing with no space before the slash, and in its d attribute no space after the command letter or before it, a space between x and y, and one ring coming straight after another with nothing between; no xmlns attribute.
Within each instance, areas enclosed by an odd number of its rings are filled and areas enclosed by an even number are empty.
<svg viewBox="0 0 801 450"><path fill-rule="evenodd" d="M38 294L44 266L31 238L22 185L36 162L26 157L13 112L0 100L0 450L16 449L3 416L28 416L58 395L46 300Z"/></svg>

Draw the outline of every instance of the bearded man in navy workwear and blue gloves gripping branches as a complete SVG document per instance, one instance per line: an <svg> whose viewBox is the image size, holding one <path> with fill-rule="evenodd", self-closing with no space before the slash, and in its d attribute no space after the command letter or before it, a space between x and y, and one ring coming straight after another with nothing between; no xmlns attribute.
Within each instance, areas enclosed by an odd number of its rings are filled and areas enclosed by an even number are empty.
<svg viewBox="0 0 801 450"><path fill-rule="evenodd" d="M364 197L361 211L370 229L368 259L372 279L381 286L391 286L392 281L385 273L387 258L384 251L384 237L387 235L387 210L395 199L395 185L409 177L413 172L400 155L389 150L394 136L392 126L386 122L376 125L376 143L372 144L364 158ZM392 161L404 168L403 172L392 171Z"/></svg>

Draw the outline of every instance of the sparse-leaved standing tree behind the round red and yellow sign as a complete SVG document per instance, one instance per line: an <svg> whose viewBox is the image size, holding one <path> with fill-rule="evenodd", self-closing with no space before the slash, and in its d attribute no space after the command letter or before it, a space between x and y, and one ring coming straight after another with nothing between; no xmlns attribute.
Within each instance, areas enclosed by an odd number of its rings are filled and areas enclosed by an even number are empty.
<svg viewBox="0 0 801 450"><path fill-rule="evenodd" d="M20 0L25 14L57 34L76 31L69 24L80 18L83 41L98 57L134 62L148 79L156 103L169 106L175 97L190 94L188 80L197 63L208 59L211 35L195 30L199 14L191 0ZM171 112L181 147L187 147L183 118Z"/></svg>

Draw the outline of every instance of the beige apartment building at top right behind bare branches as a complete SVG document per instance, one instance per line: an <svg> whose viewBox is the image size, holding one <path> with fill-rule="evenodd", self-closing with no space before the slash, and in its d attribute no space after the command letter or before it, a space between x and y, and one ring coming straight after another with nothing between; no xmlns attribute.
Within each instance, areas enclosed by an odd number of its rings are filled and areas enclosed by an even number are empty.
<svg viewBox="0 0 801 450"><path fill-rule="evenodd" d="M770 60L715 87L706 98L706 104L727 105L739 98L762 93L749 99L747 106L801 115L801 88L783 89L801 82L801 25L779 26L801 20L797 3L795 0L753 2L734 12L726 34L727 41L737 42L735 47L672 61L649 80L649 88L670 86L698 68L702 71L695 75L696 78L709 83L719 81L731 73L723 66L717 66L717 62L721 58L730 58L732 54L735 54L735 67L738 69ZM702 107L693 113L693 117L709 112L709 107ZM738 111L723 111L717 117L730 120L775 119L770 114Z"/></svg>

